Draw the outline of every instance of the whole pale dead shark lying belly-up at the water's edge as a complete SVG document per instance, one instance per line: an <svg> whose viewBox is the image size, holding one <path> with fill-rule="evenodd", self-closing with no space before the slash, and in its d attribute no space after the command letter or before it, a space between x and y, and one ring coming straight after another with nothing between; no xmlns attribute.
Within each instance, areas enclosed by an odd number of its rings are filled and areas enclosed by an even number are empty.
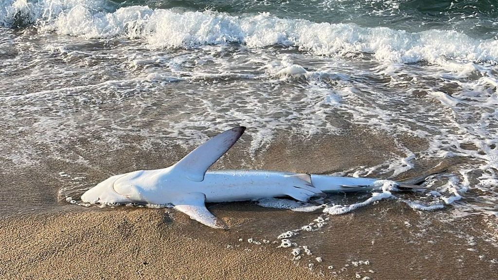
<svg viewBox="0 0 498 280"><path fill-rule="evenodd" d="M245 127L236 127L225 131L172 166L112 176L86 191L81 199L92 204L169 204L207 226L227 228L209 212L205 203L282 196L306 202L310 197L323 196L324 192L378 189L385 181L261 170L208 171L245 130Z"/></svg>

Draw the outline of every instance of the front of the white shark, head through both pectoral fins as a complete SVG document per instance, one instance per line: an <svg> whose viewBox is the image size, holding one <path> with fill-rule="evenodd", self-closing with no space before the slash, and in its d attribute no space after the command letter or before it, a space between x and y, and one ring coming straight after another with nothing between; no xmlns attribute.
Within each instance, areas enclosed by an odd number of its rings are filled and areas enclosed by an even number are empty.
<svg viewBox="0 0 498 280"><path fill-rule="evenodd" d="M173 205L213 228L227 228L206 208L200 188L208 168L242 136L245 127L235 127L195 148L177 163L162 169L138 170L112 176L87 190L81 200L91 204Z"/></svg>

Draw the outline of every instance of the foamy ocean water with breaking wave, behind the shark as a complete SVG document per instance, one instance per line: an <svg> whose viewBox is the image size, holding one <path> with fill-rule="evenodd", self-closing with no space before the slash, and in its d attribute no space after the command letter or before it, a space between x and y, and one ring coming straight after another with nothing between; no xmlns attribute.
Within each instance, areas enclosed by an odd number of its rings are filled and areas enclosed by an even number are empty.
<svg viewBox="0 0 498 280"><path fill-rule="evenodd" d="M218 168L437 171L396 201L496 217L497 18L476 0L1 0L1 215L74 209L244 125Z"/></svg>

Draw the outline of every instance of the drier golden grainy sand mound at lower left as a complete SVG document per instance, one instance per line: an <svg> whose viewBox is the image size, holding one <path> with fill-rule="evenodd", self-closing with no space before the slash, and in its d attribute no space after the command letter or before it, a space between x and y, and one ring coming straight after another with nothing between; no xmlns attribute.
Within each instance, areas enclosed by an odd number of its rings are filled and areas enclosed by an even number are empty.
<svg viewBox="0 0 498 280"><path fill-rule="evenodd" d="M91 211L0 222L2 279L317 279L277 252L227 249L161 210ZM182 219L180 219L182 220ZM222 233L223 234L223 233Z"/></svg>

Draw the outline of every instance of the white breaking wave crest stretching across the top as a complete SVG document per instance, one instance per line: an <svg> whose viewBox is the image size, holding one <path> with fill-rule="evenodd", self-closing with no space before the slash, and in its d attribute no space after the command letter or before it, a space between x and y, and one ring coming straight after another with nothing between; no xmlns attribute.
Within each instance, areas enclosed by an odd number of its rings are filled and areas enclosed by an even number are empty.
<svg viewBox="0 0 498 280"><path fill-rule="evenodd" d="M498 40L479 40L452 30L417 33L353 23L316 23L278 18L269 13L233 16L215 11L176 12L130 6L110 12L99 0L7 0L0 25L16 18L36 22L39 30L84 38L142 38L149 48L192 48L235 42L258 48L293 46L318 55L371 53L379 61L439 64L441 58L498 62ZM107 8L104 8L107 7Z"/></svg>

